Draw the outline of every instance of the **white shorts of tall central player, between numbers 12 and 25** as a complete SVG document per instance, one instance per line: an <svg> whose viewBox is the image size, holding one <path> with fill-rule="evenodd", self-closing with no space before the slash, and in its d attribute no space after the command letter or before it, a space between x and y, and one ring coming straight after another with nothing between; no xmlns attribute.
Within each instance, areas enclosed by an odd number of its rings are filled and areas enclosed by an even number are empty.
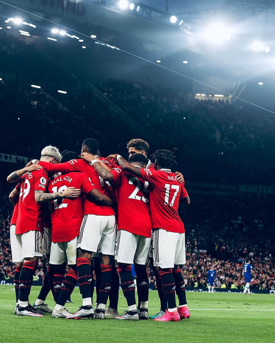
<svg viewBox="0 0 275 343"><path fill-rule="evenodd" d="M86 214L78 236L77 248L103 255L114 255L115 216Z"/></svg>

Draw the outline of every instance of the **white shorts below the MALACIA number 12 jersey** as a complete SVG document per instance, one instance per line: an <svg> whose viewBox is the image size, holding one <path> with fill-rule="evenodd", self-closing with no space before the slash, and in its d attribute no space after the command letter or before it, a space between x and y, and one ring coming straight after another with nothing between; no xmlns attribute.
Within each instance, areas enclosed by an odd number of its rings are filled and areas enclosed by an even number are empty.
<svg viewBox="0 0 275 343"><path fill-rule="evenodd" d="M69 264L76 264L77 237L68 242L52 243L50 263L62 264L65 261Z"/></svg>

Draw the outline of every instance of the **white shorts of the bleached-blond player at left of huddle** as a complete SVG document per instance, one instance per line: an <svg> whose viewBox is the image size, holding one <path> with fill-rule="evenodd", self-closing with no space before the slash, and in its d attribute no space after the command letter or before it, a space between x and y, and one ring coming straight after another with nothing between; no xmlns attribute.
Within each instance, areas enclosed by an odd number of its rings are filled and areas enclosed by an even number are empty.
<svg viewBox="0 0 275 343"><path fill-rule="evenodd" d="M28 257L42 257L42 233L37 230L31 230L23 234L15 235L17 239L18 255L16 259L19 261Z"/></svg>

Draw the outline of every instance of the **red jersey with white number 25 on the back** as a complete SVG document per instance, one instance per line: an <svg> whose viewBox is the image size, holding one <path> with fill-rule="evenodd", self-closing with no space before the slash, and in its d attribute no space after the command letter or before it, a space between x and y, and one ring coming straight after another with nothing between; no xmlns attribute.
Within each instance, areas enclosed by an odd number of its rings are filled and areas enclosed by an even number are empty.
<svg viewBox="0 0 275 343"><path fill-rule="evenodd" d="M151 237L148 182L120 168L112 169L111 173L114 177L112 184L117 186L118 229Z"/></svg>

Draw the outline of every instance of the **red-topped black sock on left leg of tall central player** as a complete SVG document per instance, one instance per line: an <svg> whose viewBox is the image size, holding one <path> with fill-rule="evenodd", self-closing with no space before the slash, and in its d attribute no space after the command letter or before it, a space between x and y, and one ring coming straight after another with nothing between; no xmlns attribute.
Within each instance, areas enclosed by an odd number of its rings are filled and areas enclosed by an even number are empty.
<svg viewBox="0 0 275 343"><path fill-rule="evenodd" d="M80 291L80 294L82 295L83 306L92 305L91 282L92 282L93 276L91 275L90 264L91 264L91 261L86 258L78 257L76 259L79 291Z"/></svg>

